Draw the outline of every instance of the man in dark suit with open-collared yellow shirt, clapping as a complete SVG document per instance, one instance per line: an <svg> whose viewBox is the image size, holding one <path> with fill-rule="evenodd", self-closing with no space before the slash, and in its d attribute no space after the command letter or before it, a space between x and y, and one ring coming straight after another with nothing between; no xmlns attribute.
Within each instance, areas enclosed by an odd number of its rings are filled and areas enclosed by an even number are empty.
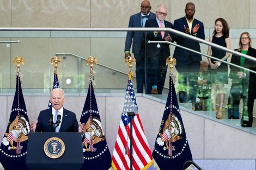
<svg viewBox="0 0 256 170"><path fill-rule="evenodd" d="M204 40L204 24L203 22L200 22L194 18L195 11L194 4L191 2L187 3L185 9L186 16L175 20L173 28L179 30L180 32L190 34ZM199 42L179 35L173 35L173 37L174 41L176 41L178 45L200 52ZM177 61L175 68L179 72L179 76L182 77L182 79L179 78L179 80L182 80L182 82L179 83L185 86L185 90L188 79L190 85L189 96L192 102L192 109L194 109L193 106L196 104L197 94L197 78L199 75L202 55L175 47L173 57Z"/></svg>

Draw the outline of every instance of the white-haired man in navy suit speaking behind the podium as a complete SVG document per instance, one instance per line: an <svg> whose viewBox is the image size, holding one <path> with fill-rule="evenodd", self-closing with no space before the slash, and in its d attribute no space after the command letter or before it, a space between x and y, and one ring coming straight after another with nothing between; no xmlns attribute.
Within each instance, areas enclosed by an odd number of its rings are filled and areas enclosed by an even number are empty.
<svg viewBox="0 0 256 170"><path fill-rule="evenodd" d="M63 108L65 100L64 91L62 89L53 89L50 97L52 108L40 111L38 119L35 123L31 123L31 132L80 132L82 133L82 127L78 128L76 114ZM57 114L56 114L57 111ZM50 116L61 115L59 127L56 129L49 124ZM56 123L53 121L53 123Z"/></svg>

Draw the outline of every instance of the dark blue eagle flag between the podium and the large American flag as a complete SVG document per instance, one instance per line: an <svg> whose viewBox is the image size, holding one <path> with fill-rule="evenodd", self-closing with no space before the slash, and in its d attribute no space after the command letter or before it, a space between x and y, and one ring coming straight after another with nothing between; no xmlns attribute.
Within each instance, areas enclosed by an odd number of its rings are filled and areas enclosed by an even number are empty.
<svg viewBox="0 0 256 170"><path fill-rule="evenodd" d="M80 122L84 123L84 163L81 169L104 170L111 168L111 154L101 126L92 81L89 84Z"/></svg>

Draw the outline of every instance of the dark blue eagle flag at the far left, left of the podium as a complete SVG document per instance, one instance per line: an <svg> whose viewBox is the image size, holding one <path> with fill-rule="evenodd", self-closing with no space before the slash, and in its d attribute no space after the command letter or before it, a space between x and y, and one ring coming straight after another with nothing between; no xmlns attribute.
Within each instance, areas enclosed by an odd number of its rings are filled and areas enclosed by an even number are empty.
<svg viewBox="0 0 256 170"><path fill-rule="evenodd" d="M26 165L27 142L30 124L17 72L16 92L10 119L0 147L0 162L4 169L28 169Z"/></svg>

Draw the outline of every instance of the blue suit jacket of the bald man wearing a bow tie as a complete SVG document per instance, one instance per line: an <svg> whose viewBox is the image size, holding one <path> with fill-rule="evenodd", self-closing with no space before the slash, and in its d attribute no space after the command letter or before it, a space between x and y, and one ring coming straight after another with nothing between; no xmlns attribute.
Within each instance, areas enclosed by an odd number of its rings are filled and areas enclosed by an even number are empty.
<svg viewBox="0 0 256 170"><path fill-rule="evenodd" d="M153 19L155 17L156 14L150 12L149 19ZM130 27L142 27L141 12L130 17L129 28ZM144 34L144 32L127 32L124 51L130 51L132 45L132 53L139 54L141 52L141 43L144 39Z"/></svg>

